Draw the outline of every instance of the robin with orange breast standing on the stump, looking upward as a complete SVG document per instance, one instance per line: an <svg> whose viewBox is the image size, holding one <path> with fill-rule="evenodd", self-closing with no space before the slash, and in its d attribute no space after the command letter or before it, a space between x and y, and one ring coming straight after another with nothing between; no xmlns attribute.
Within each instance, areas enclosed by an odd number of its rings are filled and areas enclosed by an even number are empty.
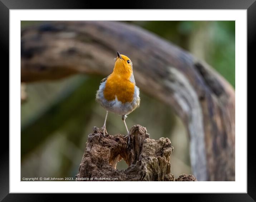
<svg viewBox="0 0 256 202"><path fill-rule="evenodd" d="M113 72L100 81L95 99L107 110L102 127L103 136L107 133L106 121L108 112L113 112L122 116L128 136L127 146L129 146L131 137L125 118L140 105L139 87L136 86L131 59L117 52L114 62Z"/></svg>

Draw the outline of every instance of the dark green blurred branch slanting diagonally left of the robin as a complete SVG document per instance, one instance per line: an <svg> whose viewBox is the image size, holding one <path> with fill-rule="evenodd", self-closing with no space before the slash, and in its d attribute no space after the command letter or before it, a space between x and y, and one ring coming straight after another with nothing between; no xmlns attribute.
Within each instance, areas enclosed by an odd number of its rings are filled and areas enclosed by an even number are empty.
<svg viewBox="0 0 256 202"><path fill-rule="evenodd" d="M70 117L73 117L77 122L89 119L94 104L91 97L95 94L95 89L89 86L99 81L100 79L95 77L81 80L76 86L67 89L65 95L61 96L42 114L37 114L21 128L21 160L57 129L66 128L66 131L69 131L67 128ZM83 130L86 121L80 125L81 128L77 128L77 131ZM73 131L73 133L75 132Z"/></svg>

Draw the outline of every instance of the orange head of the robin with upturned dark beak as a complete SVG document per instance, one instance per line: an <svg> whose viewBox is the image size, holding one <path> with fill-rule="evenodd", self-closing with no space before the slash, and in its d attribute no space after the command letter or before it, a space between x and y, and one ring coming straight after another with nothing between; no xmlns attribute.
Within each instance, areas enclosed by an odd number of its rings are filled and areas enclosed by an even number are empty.
<svg viewBox="0 0 256 202"><path fill-rule="evenodd" d="M117 52L117 57L114 59L114 61L114 69L116 69L119 72L132 73L132 61L129 59L129 57L121 55L119 52Z"/></svg>

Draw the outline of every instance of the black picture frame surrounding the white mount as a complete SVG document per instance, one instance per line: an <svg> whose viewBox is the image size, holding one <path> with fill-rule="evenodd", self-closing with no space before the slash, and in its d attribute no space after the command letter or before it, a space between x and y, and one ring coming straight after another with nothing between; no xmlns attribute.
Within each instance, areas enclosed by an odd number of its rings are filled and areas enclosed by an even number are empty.
<svg viewBox="0 0 256 202"><path fill-rule="evenodd" d="M2 50L1 61L5 62L2 66L3 69L7 70L6 66L9 66L10 9L113 9L113 7L115 6L117 7L117 9L246 9L247 63L248 65L250 64L252 66L253 57L255 57L255 54L253 54L253 52L255 51L253 51L253 49L256 40L256 0L140 0L137 2L129 1L129 4L125 5L125 7L123 3L121 4L118 1L107 1L105 3L99 4L96 1L88 2L75 0L0 0L0 47ZM254 66L255 64L253 65L253 67ZM9 69L5 75L7 74L9 75ZM7 78L7 76L5 77ZM2 86L6 86L6 84L7 82L5 81L5 83ZM6 97L7 96L5 96L3 99L6 99ZM4 119L9 120L9 118L7 117L5 117ZM253 134L247 135L247 141L247 193L184 194L182 196L182 199L186 200L186 198L188 198L190 201L256 201L256 156L253 146ZM9 193L9 136L7 135L7 133L1 134L1 142L2 144L0 146L0 201L60 200L60 196L56 194ZM102 195L102 198L104 197L106 196ZM74 200L75 198L74 196L65 195L65 199Z"/></svg>

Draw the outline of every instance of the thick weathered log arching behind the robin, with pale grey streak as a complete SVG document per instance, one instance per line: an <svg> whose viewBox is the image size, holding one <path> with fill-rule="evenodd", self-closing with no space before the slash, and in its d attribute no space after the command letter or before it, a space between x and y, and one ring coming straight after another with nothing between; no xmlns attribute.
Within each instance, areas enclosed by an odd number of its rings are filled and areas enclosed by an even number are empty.
<svg viewBox="0 0 256 202"><path fill-rule="evenodd" d="M172 106L187 126L199 181L235 180L235 91L207 64L139 27L61 21L21 31L21 81L75 73L108 75L116 52L133 61L136 83Z"/></svg>

